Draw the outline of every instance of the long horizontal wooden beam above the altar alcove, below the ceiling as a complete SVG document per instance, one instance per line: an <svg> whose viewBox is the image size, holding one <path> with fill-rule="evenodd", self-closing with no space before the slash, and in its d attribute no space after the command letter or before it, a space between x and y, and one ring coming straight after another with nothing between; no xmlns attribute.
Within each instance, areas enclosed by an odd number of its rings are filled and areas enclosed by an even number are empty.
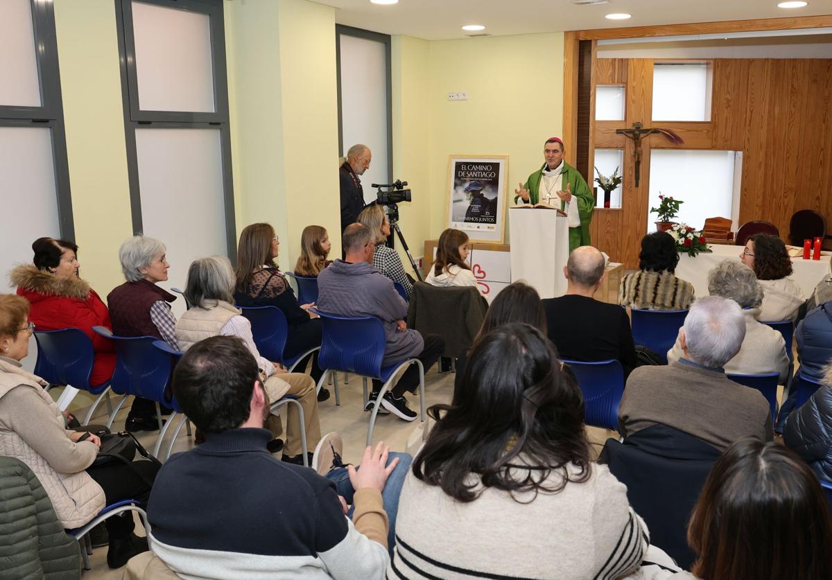
<svg viewBox="0 0 832 580"><path fill-rule="evenodd" d="M716 34L719 32L754 32L761 30L794 30L800 28L832 27L832 15L758 20L729 20L725 22L694 22L691 24L662 24L659 26L596 28L573 32L580 40L615 38L671 37L679 34Z"/></svg>

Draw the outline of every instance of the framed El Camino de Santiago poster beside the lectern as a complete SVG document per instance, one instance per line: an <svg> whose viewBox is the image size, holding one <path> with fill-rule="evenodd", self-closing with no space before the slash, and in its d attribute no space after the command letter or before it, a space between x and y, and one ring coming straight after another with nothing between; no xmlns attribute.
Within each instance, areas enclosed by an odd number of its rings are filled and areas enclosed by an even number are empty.
<svg viewBox="0 0 832 580"><path fill-rule="evenodd" d="M448 160L448 228L474 242L503 243L508 155L451 155Z"/></svg>

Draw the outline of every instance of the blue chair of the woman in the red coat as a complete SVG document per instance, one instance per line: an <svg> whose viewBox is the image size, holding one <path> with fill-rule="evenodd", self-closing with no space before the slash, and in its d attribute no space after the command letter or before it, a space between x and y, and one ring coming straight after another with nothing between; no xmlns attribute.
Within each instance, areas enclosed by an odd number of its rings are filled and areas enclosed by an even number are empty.
<svg viewBox="0 0 832 580"><path fill-rule="evenodd" d="M77 328L36 330L35 341L37 342L37 362L34 374L49 381L52 385L74 386L80 391L87 391L96 396L96 400L92 402L87 416L82 421L82 425L87 425L102 399L106 397L107 404L110 405L110 381L101 385L90 384L92 364L95 360L90 337ZM115 416L116 413L111 409L107 425L111 425Z"/></svg>

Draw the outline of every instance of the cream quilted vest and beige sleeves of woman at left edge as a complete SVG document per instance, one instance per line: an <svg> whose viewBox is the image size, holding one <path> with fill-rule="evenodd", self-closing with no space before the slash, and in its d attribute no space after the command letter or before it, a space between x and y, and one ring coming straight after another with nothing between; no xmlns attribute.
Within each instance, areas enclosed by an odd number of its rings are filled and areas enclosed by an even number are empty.
<svg viewBox="0 0 832 580"><path fill-rule="evenodd" d="M46 381L24 371L17 363L0 358L0 455L16 457L27 464L37 475L43 489L46 489L52 507L65 528L78 528L98 514L105 504L104 490L84 471L98 453L96 445L69 440L61 410L43 389ZM26 389L27 391L17 391ZM16 405L7 395L17 391ZM21 403L23 404L21 406ZM46 407L39 408L40 405ZM12 413L12 406L15 407ZM37 430L37 441L24 440L12 429L15 421L26 420L25 410L29 408L40 415L50 415L49 421ZM12 416L14 415L14 416ZM31 445L30 445L31 444ZM60 455L62 461L77 468L74 473L59 473L34 447ZM49 453L44 451L44 453Z"/></svg>

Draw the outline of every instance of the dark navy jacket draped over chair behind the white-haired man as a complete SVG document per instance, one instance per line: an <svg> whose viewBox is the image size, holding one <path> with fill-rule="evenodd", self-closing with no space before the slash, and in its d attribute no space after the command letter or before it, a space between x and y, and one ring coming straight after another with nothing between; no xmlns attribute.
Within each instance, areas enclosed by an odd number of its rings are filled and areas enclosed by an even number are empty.
<svg viewBox="0 0 832 580"><path fill-rule="evenodd" d="M650 543L681 568L696 554L687 545L687 524L720 451L693 435L652 425L620 443L608 439L598 458L622 484L627 499L650 529Z"/></svg>

